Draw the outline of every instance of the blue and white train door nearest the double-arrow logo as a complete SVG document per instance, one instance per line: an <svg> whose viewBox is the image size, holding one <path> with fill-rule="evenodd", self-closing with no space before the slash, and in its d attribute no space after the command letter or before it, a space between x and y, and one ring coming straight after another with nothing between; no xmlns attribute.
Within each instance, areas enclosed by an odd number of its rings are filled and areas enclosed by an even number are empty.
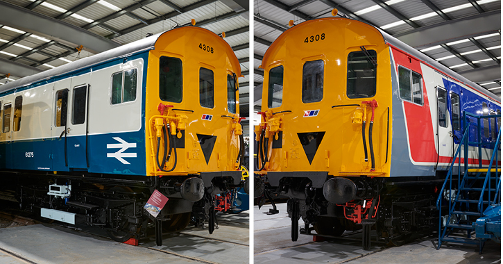
<svg viewBox="0 0 503 264"><path fill-rule="evenodd" d="M76 83L72 80L72 84ZM74 85L69 91L67 161L69 169L87 169L87 108L89 85Z"/></svg>

